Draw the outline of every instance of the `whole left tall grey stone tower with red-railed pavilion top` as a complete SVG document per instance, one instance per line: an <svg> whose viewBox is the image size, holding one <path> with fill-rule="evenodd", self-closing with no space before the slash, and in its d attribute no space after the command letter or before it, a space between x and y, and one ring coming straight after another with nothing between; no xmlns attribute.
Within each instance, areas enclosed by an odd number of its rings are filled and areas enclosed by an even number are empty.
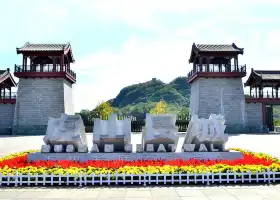
<svg viewBox="0 0 280 200"><path fill-rule="evenodd" d="M49 117L74 114L72 84L76 74L70 68L74 62L71 45L27 42L16 50L23 59L14 70L19 83L13 134L45 134Z"/></svg>

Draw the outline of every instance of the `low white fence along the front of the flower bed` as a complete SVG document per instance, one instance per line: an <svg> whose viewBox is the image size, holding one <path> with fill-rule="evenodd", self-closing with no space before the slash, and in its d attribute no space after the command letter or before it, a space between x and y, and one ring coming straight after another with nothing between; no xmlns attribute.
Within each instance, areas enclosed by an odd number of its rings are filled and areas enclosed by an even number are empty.
<svg viewBox="0 0 280 200"><path fill-rule="evenodd" d="M89 185L173 185L173 184L239 184L279 183L280 172L208 172L208 173L142 173L142 174L1 174L0 186L89 186Z"/></svg>

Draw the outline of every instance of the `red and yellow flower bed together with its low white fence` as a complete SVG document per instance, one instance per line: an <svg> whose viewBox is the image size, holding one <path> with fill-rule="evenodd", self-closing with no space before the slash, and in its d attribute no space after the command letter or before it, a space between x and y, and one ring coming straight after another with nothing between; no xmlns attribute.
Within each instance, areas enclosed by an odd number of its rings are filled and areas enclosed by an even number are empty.
<svg viewBox="0 0 280 200"><path fill-rule="evenodd" d="M263 153L233 149L243 153L237 160L152 160L152 161L35 161L27 151L0 159L1 184L51 183L137 183L246 182L280 180L280 160ZM128 177L128 178L127 178ZM44 179L44 180L43 180ZM32 182L33 181L33 182ZM71 182L72 181L72 182ZM97 182L95 182L97 181ZM103 181L103 182L102 182Z"/></svg>

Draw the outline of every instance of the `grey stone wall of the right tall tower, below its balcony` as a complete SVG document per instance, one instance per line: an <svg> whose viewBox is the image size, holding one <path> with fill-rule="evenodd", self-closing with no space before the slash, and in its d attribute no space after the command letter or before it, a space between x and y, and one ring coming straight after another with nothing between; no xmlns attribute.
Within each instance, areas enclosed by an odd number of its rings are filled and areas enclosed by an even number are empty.
<svg viewBox="0 0 280 200"><path fill-rule="evenodd" d="M223 114L226 133L248 132L241 78L196 79L191 84L190 113L199 118Z"/></svg>

